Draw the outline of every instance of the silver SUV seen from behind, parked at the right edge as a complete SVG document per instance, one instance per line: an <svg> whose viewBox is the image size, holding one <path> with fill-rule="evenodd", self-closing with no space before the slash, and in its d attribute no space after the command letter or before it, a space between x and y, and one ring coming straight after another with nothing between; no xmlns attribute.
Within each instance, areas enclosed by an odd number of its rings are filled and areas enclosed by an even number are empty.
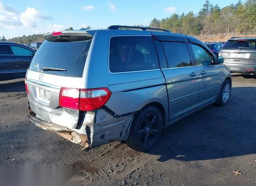
<svg viewBox="0 0 256 186"><path fill-rule="evenodd" d="M219 55L231 72L256 75L256 38L232 37Z"/></svg>

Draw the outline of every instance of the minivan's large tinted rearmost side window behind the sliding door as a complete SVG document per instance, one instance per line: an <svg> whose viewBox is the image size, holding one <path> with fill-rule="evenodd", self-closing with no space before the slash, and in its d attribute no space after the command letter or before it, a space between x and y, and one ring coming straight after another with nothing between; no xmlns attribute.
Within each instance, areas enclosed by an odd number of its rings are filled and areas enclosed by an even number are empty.
<svg viewBox="0 0 256 186"><path fill-rule="evenodd" d="M159 69L151 36L110 38L109 69L112 73Z"/></svg>

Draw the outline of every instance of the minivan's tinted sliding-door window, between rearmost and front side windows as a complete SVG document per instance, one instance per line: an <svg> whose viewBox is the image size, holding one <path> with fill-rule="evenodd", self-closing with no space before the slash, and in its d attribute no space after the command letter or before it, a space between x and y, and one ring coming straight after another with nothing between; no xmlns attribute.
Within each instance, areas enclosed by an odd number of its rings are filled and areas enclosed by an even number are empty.
<svg viewBox="0 0 256 186"><path fill-rule="evenodd" d="M192 66L186 43L162 42L169 68Z"/></svg>

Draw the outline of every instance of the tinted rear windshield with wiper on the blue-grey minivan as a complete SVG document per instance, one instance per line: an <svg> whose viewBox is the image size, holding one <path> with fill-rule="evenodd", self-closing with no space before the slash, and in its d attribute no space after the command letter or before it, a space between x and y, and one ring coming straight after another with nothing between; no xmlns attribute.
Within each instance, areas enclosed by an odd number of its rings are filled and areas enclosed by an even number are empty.
<svg viewBox="0 0 256 186"><path fill-rule="evenodd" d="M91 38L69 36L45 40L34 55L29 69L53 75L82 77ZM58 68L65 71L43 71L41 68Z"/></svg>

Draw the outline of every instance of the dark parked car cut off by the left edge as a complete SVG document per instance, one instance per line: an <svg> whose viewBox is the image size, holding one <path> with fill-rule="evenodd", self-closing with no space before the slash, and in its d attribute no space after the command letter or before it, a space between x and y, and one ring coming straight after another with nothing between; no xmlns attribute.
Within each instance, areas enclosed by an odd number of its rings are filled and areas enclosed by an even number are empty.
<svg viewBox="0 0 256 186"><path fill-rule="evenodd" d="M12 42L0 42L0 80L23 78L36 51Z"/></svg>

